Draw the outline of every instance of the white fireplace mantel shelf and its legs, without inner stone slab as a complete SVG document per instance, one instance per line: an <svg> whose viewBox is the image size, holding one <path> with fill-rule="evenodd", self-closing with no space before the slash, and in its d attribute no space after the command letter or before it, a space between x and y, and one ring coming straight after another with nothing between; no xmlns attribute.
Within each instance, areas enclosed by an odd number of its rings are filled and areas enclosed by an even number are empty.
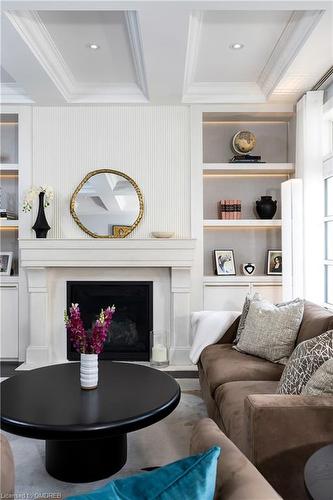
<svg viewBox="0 0 333 500"><path fill-rule="evenodd" d="M189 364L195 240L20 239L19 246L21 266L27 274L30 316L29 345L23 368L66 361L64 354L54 355L51 347L52 336L61 336L63 332L56 331L50 321L54 297L48 279L49 271L61 273L62 268L72 269L72 272L76 269L76 273L79 269L82 273L87 270L91 273L94 269L100 273L101 268L123 268L124 272L125 268L169 268L171 363ZM65 303L61 306L64 309Z"/></svg>

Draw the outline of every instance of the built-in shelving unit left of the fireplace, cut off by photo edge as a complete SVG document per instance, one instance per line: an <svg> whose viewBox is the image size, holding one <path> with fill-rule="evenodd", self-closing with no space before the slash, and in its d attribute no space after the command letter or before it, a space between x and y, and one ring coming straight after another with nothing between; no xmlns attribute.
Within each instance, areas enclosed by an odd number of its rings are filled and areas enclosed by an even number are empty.
<svg viewBox="0 0 333 500"><path fill-rule="evenodd" d="M22 110L22 113L27 112ZM20 358L20 345L22 351L24 348L24 342L20 344L20 325L26 324L23 316L27 297L24 295L25 283L19 264L19 204L22 152L26 150L28 134L21 125L21 108L3 106L0 114L0 238L3 259L0 272L0 352L1 358L6 360ZM24 170L23 176L28 175L28 161L24 163ZM9 260L6 254L10 253L12 264L10 274L7 274Z"/></svg>

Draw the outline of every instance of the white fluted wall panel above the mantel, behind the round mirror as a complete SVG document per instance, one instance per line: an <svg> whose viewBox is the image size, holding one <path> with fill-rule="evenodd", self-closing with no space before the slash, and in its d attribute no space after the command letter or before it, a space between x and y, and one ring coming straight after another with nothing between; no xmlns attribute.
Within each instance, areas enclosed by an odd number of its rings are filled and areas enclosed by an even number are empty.
<svg viewBox="0 0 333 500"><path fill-rule="evenodd" d="M185 106L33 108L33 180L49 184L51 238L90 238L69 211L70 197L90 171L125 172L140 187L143 221L129 236L174 231L190 237L190 122Z"/></svg>

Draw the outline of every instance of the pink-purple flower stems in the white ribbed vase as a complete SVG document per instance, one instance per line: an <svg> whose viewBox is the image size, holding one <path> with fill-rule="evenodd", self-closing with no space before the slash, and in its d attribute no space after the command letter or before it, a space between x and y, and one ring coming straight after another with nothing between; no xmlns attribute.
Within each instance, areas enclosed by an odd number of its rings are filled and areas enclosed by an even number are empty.
<svg viewBox="0 0 333 500"><path fill-rule="evenodd" d="M105 311L102 309L92 331L86 332L81 320L79 305L72 304L69 316L65 312L65 324L74 349L85 354L102 352L114 312L114 306L109 306Z"/></svg>

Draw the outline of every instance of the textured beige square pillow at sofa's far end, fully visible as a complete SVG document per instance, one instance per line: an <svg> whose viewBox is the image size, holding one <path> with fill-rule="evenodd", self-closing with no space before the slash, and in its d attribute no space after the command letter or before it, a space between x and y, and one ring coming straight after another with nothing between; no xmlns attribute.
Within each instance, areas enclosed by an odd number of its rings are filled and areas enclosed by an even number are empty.
<svg viewBox="0 0 333 500"><path fill-rule="evenodd" d="M267 300L251 302L234 348L273 363L286 364L295 347L303 312L301 299L277 306Z"/></svg>

